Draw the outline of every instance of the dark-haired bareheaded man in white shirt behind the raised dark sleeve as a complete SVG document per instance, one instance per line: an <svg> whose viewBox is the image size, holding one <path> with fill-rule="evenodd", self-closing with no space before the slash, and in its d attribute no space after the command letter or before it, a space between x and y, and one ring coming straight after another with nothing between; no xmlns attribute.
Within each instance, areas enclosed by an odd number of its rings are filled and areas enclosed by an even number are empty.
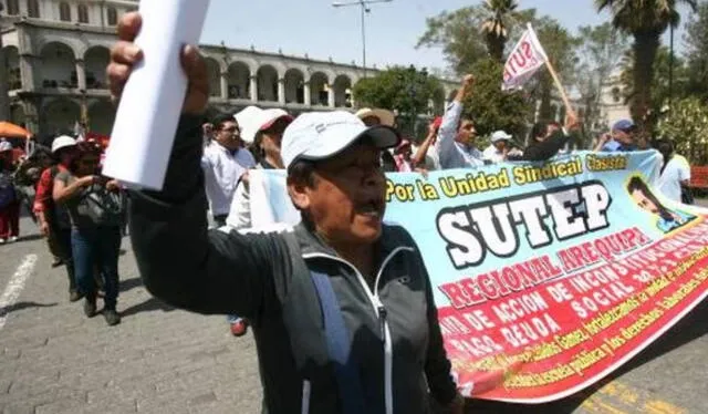
<svg viewBox="0 0 708 414"><path fill-rule="evenodd" d="M223 227L239 180L249 168L256 166L256 159L243 147L233 115L219 115L212 125L214 139L204 149L201 168L214 221L217 227Z"/></svg>

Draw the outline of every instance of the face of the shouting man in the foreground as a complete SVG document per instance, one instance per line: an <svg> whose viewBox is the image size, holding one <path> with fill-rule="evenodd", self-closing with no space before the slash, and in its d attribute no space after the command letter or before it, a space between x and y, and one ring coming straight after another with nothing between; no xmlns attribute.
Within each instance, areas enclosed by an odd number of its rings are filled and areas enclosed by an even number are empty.
<svg viewBox="0 0 708 414"><path fill-rule="evenodd" d="M381 237L386 179L379 159L379 149L356 144L320 162L314 185L305 187L295 201L333 246L369 245Z"/></svg>

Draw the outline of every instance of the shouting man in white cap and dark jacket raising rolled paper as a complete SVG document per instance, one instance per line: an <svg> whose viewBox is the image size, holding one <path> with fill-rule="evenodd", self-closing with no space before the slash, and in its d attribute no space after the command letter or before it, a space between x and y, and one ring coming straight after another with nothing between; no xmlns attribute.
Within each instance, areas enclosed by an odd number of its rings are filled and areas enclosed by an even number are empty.
<svg viewBox="0 0 708 414"><path fill-rule="evenodd" d="M140 24L126 13L118 25L107 70L115 99L142 59ZM398 133L347 112L301 115L281 154L303 222L209 231L200 168L209 75L191 45L181 62L188 86L164 187L131 198L145 287L178 308L249 319L266 412L423 414L429 392L461 414L420 251L405 229L383 224L381 152Z"/></svg>

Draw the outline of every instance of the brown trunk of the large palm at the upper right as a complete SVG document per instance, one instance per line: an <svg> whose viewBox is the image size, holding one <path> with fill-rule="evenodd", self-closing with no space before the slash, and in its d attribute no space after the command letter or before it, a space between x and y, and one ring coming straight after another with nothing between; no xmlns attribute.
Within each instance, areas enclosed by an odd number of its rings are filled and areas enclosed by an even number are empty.
<svg viewBox="0 0 708 414"><path fill-rule="evenodd" d="M654 61L660 44L660 33L635 33L634 38L634 97L631 104L632 116L639 126L645 125L652 110L652 81Z"/></svg>

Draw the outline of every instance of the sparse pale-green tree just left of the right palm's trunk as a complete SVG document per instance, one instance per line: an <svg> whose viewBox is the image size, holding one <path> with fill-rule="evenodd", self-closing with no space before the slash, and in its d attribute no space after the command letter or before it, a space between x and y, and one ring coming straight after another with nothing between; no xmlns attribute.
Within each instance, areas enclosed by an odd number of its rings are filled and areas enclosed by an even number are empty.
<svg viewBox="0 0 708 414"><path fill-rule="evenodd" d="M591 130L605 130L600 125L602 91L608 77L620 68L625 50L629 48L627 35L612 23L579 28L576 85L585 104L584 123Z"/></svg>

